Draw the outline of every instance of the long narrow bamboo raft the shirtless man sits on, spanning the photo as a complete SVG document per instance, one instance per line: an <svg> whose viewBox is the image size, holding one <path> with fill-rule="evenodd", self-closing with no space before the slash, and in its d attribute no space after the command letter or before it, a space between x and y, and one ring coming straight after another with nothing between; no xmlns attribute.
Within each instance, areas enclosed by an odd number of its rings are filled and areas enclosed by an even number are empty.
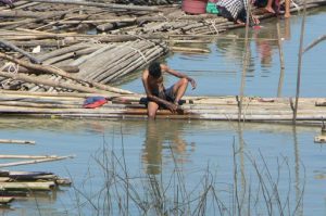
<svg viewBox="0 0 326 216"><path fill-rule="evenodd" d="M88 97L102 96L108 99L101 107L84 109ZM160 109L158 118L239 120L239 99L229 97L185 97L181 110L171 113ZM241 122L289 123L293 117L293 101L290 98L252 98L242 100ZM300 98L297 120L321 124L326 118L326 99ZM117 118L146 119L146 98L141 94L110 97L100 93L41 93L1 91L1 116L21 115L46 118Z"/></svg>

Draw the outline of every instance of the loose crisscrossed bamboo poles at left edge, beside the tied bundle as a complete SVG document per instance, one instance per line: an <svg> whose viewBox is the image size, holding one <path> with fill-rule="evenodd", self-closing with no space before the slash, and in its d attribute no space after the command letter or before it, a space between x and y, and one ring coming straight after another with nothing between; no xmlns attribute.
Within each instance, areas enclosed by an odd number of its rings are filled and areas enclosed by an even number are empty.
<svg viewBox="0 0 326 216"><path fill-rule="evenodd" d="M0 42L1 42L1 40L0 40ZM108 47L110 47L110 46L105 46L104 48L106 49ZM13 48L15 48L15 47L13 47ZM66 58L68 58L71 55L71 53L75 53L78 50L80 50L80 52L77 52L77 53L86 53L87 54L89 52L92 52L91 53L92 55L95 55L93 53L98 53L98 51L99 51L99 50L97 50L96 52L93 52L95 49L92 49L92 48L89 49L88 46L84 46L84 45L75 46L73 48L74 49L72 49L72 47L71 47L68 49L55 50L51 53L40 56L39 59L36 59L36 61L41 61L45 63L53 63L53 62L58 62L60 60L65 60ZM21 51L20 49L16 49L16 50L20 51L21 53L23 53L24 55L26 55L27 58L30 58L24 51ZM64 53L66 53L66 54L64 54ZM62 56L64 56L64 58L62 58ZM77 75L70 74L57 66L33 64L33 63L29 63L26 61L18 60L11 55L7 55L1 52L0 52L0 58L5 59L5 60L10 61L11 63L17 64L17 65L4 65L1 68L0 77L2 77L2 78L0 80L2 81L2 87L5 87L5 85L8 85L9 89L12 89L12 86L14 85L13 88L16 90L21 90L22 88L25 88L24 90L27 89L27 90L32 90L32 91L46 89L46 91L82 91L82 92L101 92L102 91L102 92L106 92L106 93L109 93L109 92L130 93L128 91L124 91L124 90L121 90L117 88L101 85L101 84L92 81L92 80L85 80L83 78L79 78ZM51 59L49 59L49 58L51 58ZM35 58L32 56L32 59L35 59ZM24 69L20 69L18 65L23 66ZM75 67L70 66L70 68L75 68ZM38 76L36 76L36 75L38 75ZM53 79L53 80L51 80L51 79ZM42 85L45 88L41 89L39 87L39 85Z"/></svg>

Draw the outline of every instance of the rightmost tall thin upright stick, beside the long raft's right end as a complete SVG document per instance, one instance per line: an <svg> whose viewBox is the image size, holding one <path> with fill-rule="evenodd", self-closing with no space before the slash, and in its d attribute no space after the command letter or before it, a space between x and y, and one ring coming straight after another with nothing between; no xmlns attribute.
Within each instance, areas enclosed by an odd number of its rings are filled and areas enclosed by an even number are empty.
<svg viewBox="0 0 326 216"><path fill-rule="evenodd" d="M301 64L302 64L302 54L303 54L303 36L304 36L304 27L305 27L305 0L303 2L303 17L301 23L301 35L300 35L300 46L299 46L299 58L298 58L298 77L297 77L297 93L296 93L296 104L293 111L293 124L297 124L297 112L298 112L298 101L300 94L300 82L301 82Z"/></svg>

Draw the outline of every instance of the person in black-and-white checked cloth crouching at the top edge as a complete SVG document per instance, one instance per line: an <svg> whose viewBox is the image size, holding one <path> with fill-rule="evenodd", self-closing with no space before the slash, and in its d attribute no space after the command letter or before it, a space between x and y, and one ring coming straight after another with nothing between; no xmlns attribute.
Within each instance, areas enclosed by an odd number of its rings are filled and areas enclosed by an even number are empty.
<svg viewBox="0 0 326 216"><path fill-rule="evenodd" d="M237 24L244 25L248 14L247 4L248 0L218 0L216 7L218 9L218 14L223 17ZM254 25L260 23L252 14L250 14L249 21Z"/></svg>

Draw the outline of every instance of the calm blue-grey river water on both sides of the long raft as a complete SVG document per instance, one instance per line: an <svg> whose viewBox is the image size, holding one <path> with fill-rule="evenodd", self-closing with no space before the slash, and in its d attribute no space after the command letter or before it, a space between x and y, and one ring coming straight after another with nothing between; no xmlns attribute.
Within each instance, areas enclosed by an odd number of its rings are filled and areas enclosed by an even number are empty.
<svg viewBox="0 0 326 216"><path fill-rule="evenodd" d="M325 35L325 8L309 11L304 47ZM251 30L244 94L296 96L301 18L300 15L292 15L288 21L279 21L286 66L281 81L275 20L263 21L260 30ZM227 35L243 38L243 29L236 29ZM189 90L187 94L239 94L243 40L218 39L201 47L210 49L211 53L172 53L162 61L197 79L198 89ZM325 50L324 41L303 56L303 97L325 96ZM140 73L129 76L127 81L118 86L142 92ZM166 81L168 86L174 79L166 77ZM123 183L124 178L118 178L122 176L128 176L129 189L140 190L138 194L150 198L149 200L154 196L142 189L150 186L139 177L156 177L159 186L166 189L162 190L164 195L172 203L176 199L185 200L185 196L179 198L181 192L176 195L175 191L179 191L179 188L185 187L185 191L191 196L202 194L201 188L210 182L214 191L218 191L217 196L224 204L225 215L238 213L235 207L237 200L242 206L240 211L249 215L267 215L268 209L272 215L279 215L279 212L285 215L326 214L325 147L314 143L314 137L321 135L319 127L201 120L1 117L0 128L1 139L36 141L36 145L1 144L1 154L74 155L74 158L59 162L11 167L10 170L53 171L61 177L71 178L73 186L15 201L10 207L0 208L2 215L124 213L118 211L127 211L127 215L141 215L131 200L128 205L121 201L124 205L120 208L112 204L114 209L105 204L110 203L108 193L112 193L114 198L111 203L116 203L117 198L125 199L126 185ZM4 162L8 161L1 161ZM110 171L104 173L101 166ZM110 176L112 173L114 175ZM114 188L115 192L103 192L109 188L109 182L112 183L111 177L120 185ZM278 199L266 201L273 194L278 195ZM277 201L280 201L281 209L278 208ZM193 201L191 206L199 206L198 203ZM185 215L193 213L191 211ZM212 207L209 203L205 211L204 215L221 213L218 207ZM155 214L150 212L150 215Z"/></svg>

